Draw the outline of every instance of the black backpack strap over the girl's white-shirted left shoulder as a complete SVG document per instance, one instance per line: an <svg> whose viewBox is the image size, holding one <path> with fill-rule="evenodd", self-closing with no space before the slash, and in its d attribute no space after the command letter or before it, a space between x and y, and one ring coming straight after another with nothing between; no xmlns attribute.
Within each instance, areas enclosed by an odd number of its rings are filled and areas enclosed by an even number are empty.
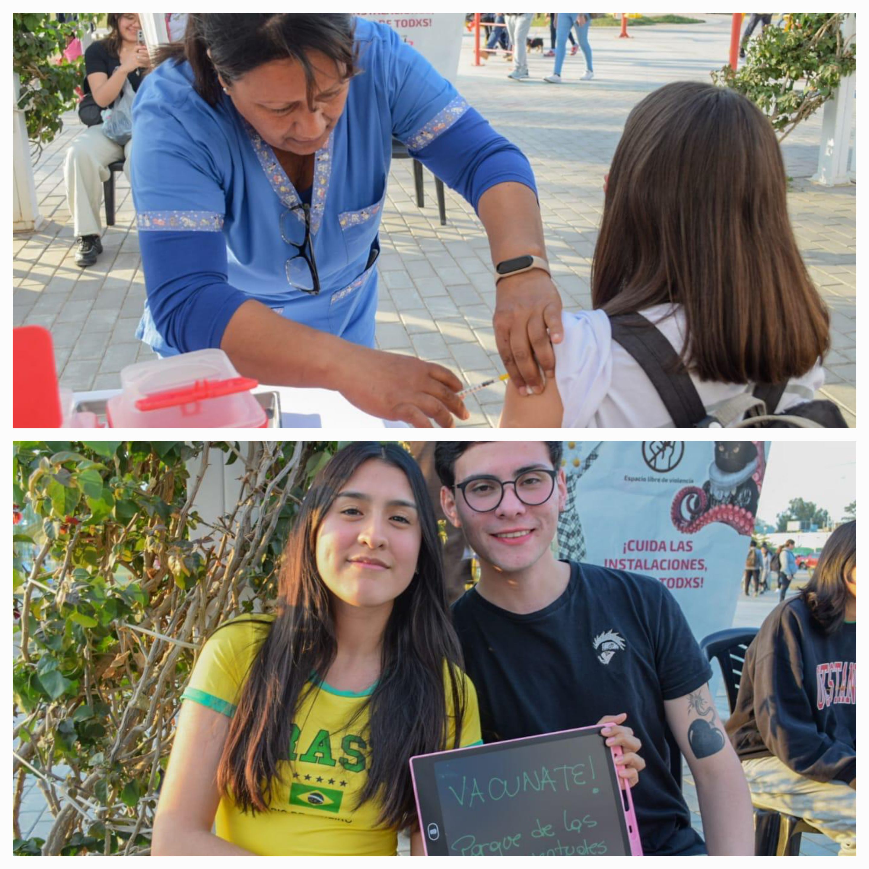
<svg viewBox="0 0 869 869"><path fill-rule="evenodd" d="M614 342L627 350L646 375L673 417L676 428L693 428L706 419L706 407L679 354L652 322L641 314L609 318Z"/></svg>

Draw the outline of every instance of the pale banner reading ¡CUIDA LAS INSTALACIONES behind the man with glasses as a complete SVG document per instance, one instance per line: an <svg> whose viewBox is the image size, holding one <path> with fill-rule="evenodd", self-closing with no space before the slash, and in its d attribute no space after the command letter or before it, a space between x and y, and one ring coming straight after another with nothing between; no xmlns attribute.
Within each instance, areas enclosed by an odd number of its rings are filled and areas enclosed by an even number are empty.
<svg viewBox="0 0 869 869"><path fill-rule="evenodd" d="M663 582L694 637L732 627L769 444L568 441L562 558Z"/></svg>

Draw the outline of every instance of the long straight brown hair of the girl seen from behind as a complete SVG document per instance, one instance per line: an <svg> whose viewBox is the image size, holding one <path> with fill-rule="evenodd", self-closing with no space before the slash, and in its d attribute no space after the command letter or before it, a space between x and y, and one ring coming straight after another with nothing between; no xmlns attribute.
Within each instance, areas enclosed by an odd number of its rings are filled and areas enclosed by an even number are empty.
<svg viewBox="0 0 869 869"><path fill-rule="evenodd" d="M609 171L592 301L679 304L702 380L783 383L830 346L829 314L787 216L768 119L734 90L667 84L631 111Z"/></svg>

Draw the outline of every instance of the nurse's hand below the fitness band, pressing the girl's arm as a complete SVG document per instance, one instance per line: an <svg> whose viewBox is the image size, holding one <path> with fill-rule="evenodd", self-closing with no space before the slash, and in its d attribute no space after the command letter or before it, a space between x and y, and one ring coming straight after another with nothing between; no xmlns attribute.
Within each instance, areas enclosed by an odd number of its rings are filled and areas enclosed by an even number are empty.
<svg viewBox="0 0 869 869"><path fill-rule="evenodd" d="M561 295L541 269L501 278L495 293L494 340L520 395L543 391L555 376L553 344L563 338Z"/></svg>

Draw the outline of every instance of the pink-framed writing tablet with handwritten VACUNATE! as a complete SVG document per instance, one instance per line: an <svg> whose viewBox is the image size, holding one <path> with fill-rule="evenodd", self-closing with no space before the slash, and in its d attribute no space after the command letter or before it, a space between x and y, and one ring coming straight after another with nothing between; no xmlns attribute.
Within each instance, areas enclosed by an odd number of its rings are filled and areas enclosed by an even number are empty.
<svg viewBox="0 0 869 869"><path fill-rule="evenodd" d="M411 758L428 856L642 856L601 727Z"/></svg>

